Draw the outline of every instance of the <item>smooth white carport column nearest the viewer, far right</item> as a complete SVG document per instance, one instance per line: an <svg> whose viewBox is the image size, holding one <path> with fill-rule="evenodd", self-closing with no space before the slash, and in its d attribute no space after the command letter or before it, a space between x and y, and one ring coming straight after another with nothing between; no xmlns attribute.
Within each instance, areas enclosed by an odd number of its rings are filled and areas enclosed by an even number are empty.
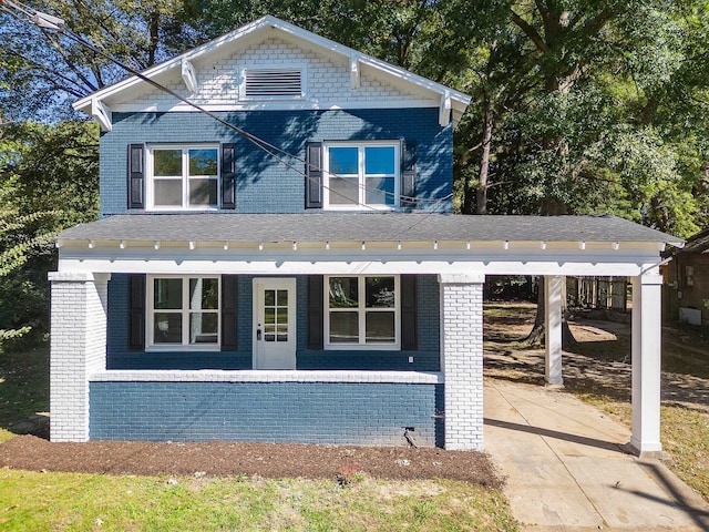
<svg viewBox="0 0 709 532"><path fill-rule="evenodd" d="M660 443L661 288L657 273L633 277L633 436L640 456L662 451Z"/></svg>

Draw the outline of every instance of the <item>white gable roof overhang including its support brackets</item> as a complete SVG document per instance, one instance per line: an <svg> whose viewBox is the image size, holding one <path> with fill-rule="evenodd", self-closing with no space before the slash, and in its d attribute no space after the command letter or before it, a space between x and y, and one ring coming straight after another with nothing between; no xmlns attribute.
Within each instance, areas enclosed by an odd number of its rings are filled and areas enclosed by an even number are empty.
<svg viewBox="0 0 709 532"><path fill-rule="evenodd" d="M432 98L435 101L440 102L442 125L446 125L451 114L453 123L458 123L461 115L471 102L471 96L469 96L467 94L455 91L449 86L442 85L432 80L409 72L401 66L390 64L380 59L359 52L354 49L331 41L330 39L326 39L271 16L263 17L249 24L226 33L205 44L202 44L201 47L192 49L168 61L152 66L143 71L142 75L147 79L158 81L161 76L175 71L179 76L183 78L183 80L185 80L185 83L191 92L194 92L194 85L196 85L196 76L192 65L195 60L215 52L219 48L227 44L233 45L240 42L244 45L248 45L265 32L280 33L282 37L288 37L291 40L300 41L307 47L317 49L325 54L338 55L349 61L352 86L358 85L359 75L362 70L371 70L380 75L389 76L393 80L397 80L400 83L412 84L430 92ZM141 84L145 84L145 81L141 80L136 75L132 75L123 81L120 81L113 85L106 86L104 89L101 89L100 91L82 98L73 104L73 108L78 111L82 111L94 116L99 121L102 121L102 113L105 114L110 112L109 105L105 104L106 99L111 99L121 94L122 92L135 89ZM99 105L102 105L102 108L100 108ZM100 110L101 113L96 114L96 110ZM448 114L445 114L446 112Z"/></svg>

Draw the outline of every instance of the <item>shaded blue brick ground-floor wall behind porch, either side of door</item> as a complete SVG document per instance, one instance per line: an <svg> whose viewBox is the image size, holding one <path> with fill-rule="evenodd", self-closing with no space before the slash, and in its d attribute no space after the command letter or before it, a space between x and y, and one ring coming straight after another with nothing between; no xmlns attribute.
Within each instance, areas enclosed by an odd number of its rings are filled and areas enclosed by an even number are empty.
<svg viewBox="0 0 709 532"><path fill-rule="evenodd" d="M253 279L238 280L238 351L132 351L129 349L129 276L113 274L109 283L106 366L109 369L251 369ZM331 351L309 350L307 277L298 276L297 369L439 371L439 284L433 275L417 283L417 351ZM409 362L413 357L413 362Z"/></svg>

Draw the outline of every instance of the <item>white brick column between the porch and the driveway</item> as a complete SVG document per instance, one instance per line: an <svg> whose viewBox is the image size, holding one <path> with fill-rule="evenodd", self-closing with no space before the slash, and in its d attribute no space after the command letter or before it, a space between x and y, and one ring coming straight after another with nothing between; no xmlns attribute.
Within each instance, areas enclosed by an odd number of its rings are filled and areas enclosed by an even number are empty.
<svg viewBox="0 0 709 532"><path fill-rule="evenodd" d="M483 449L483 274L440 275L446 449Z"/></svg>

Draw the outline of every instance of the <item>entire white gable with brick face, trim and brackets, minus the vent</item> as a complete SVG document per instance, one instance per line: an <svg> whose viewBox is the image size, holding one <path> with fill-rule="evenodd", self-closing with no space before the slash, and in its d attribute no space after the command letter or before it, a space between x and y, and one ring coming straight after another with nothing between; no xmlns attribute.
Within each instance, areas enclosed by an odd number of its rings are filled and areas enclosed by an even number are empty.
<svg viewBox="0 0 709 532"><path fill-rule="evenodd" d="M244 66L304 68L304 98L239 98ZM456 124L471 98L400 66L358 52L275 17L264 17L142 74L210 111L249 109L439 108ZM133 75L74 103L111 129L112 111L195 111Z"/></svg>

